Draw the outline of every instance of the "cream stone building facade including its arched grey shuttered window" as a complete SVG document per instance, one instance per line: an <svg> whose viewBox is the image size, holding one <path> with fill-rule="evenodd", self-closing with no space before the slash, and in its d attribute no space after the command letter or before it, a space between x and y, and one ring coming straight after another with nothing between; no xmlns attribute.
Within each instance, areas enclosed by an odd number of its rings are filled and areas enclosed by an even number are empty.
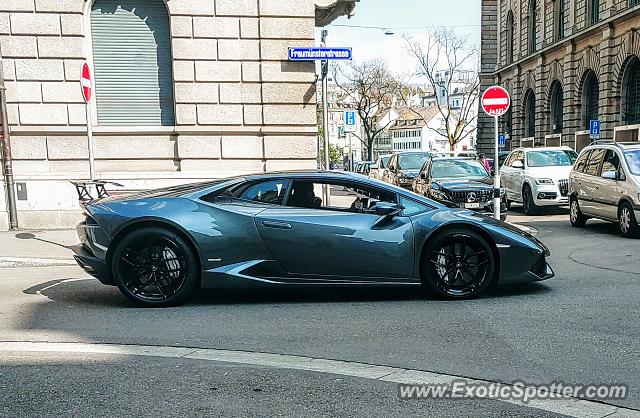
<svg viewBox="0 0 640 418"><path fill-rule="evenodd" d="M314 46L316 25L354 1L0 1L20 227L79 219L68 180L88 178L85 61L100 179L139 190L315 168L315 66L287 49Z"/></svg>

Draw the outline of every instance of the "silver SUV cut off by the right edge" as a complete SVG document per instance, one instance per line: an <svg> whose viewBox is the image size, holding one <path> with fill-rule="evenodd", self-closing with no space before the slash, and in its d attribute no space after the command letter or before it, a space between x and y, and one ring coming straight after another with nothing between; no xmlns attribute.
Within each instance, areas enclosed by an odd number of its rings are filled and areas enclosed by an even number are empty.
<svg viewBox="0 0 640 418"><path fill-rule="evenodd" d="M640 234L640 144L598 141L580 153L569 177L571 225L589 218L617 222L624 237Z"/></svg>

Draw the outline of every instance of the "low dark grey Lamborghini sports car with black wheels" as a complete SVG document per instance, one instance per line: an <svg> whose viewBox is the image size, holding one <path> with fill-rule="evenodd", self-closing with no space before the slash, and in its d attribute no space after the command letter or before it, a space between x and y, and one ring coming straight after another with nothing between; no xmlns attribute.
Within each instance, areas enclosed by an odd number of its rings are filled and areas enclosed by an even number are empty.
<svg viewBox="0 0 640 418"><path fill-rule="evenodd" d="M78 264L146 306L199 288L422 286L449 299L545 280L510 224L347 172L257 174L83 204Z"/></svg>

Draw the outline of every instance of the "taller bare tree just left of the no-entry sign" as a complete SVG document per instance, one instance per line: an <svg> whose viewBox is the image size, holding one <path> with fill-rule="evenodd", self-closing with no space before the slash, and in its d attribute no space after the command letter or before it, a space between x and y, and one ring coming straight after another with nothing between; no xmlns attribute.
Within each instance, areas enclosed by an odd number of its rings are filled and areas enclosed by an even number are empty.
<svg viewBox="0 0 640 418"><path fill-rule="evenodd" d="M418 61L417 76L426 80L436 95L435 106L443 120L443 129L428 128L447 138L451 151L456 144L471 135L476 129L476 107L480 79L477 68L478 49L469 44L468 37L457 35L451 28L439 28L428 33L426 40L405 37L407 49ZM448 77L441 77L448 72ZM450 96L454 93L452 84L462 84L463 96L461 108L451 109ZM442 101L437 100L438 92L443 94ZM406 102L406 100L405 100ZM407 103L409 108L413 108ZM420 115L419 112L415 112ZM428 123L429 121L425 121Z"/></svg>

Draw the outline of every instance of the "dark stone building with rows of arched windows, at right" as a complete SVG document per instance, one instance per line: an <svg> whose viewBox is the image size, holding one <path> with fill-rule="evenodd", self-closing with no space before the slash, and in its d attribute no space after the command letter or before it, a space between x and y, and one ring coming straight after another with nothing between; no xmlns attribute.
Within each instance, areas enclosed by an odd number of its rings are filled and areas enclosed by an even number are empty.
<svg viewBox="0 0 640 418"><path fill-rule="evenodd" d="M511 145L637 141L640 129L639 0L482 0L481 91L505 87L512 109L500 120ZM482 111L478 147L492 149ZM508 145L509 146L509 145Z"/></svg>

